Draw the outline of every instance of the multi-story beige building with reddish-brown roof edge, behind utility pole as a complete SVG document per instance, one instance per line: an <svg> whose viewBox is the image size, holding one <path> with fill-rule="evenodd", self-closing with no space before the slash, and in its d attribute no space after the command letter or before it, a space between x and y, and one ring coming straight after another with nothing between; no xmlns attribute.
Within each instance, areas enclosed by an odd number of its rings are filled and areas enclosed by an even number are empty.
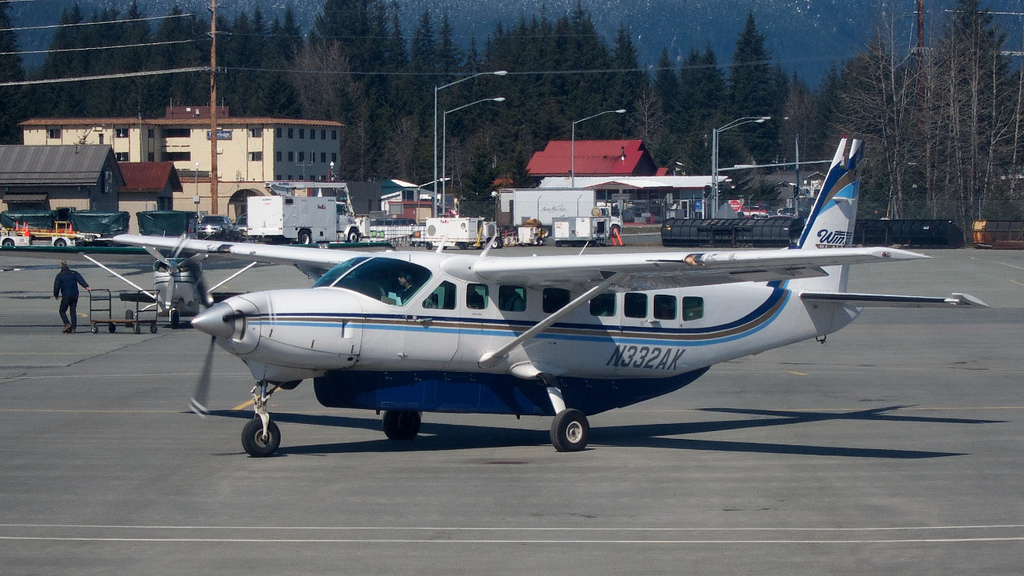
<svg viewBox="0 0 1024 576"><path fill-rule="evenodd" d="M164 118L33 118L25 145L108 145L119 162L173 162L182 191L176 210L212 212L210 107L169 107ZM232 217L270 180L328 181L342 124L326 120L232 117L217 109L217 213Z"/></svg>

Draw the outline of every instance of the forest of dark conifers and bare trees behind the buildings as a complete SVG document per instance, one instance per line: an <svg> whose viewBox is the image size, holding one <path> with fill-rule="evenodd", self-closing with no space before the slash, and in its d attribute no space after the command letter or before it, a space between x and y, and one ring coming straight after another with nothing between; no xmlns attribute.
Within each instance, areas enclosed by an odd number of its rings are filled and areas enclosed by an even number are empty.
<svg viewBox="0 0 1024 576"><path fill-rule="evenodd" d="M142 17L167 16L154 20ZM208 13L118 12L59 16L45 61L26 70L17 26L0 2L0 143L20 143L18 122L34 117L161 117L169 105L209 101ZM218 16L218 104L232 116L326 119L345 125L338 173L344 179L425 182L433 170L434 88L450 110L474 107L447 124L453 186L463 198L489 198L498 178L525 182L534 152L567 139L573 120L625 108L579 127L578 138L641 138L660 166L711 170L711 132L736 118L771 116L723 134L720 164L830 158L841 134L867 143L861 211L876 216L971 220L1024 217L1020 139L1024 76L1004 55L1005 35L979 0L958 0L926 51L895 40L878 16L863 49L838 63L818 86L772 61L751 13L728 61L711 48L654 66L637 60L631 31L603 38L578 7L500 25L468 46L453 40L446 14L430 12L404 31L384 0L326 0L310 30L291 9ZM95 26L74 26L105 23ZM127 47L121 47L127 46ZM117 47L97 49L99 47ZM141 75L141 72L190 72ZM123 77L36 83L97 75ZM733 177L746 198L791 191ZM967 225L965 225L967 224Z"/></svg>

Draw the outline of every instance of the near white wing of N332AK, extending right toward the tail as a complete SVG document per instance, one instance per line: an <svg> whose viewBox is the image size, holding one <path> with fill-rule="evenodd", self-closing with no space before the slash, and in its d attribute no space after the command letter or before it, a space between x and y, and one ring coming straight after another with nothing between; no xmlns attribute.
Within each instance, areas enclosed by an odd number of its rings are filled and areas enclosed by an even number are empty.
<svg viewBox="0 0 1024 576"><path fill-rule="evenodd" d="M532 287L587 289L618 275L613 290L652 290L825 276L823 266L927 258L893 248L643 252L480 258L480 279ZM458 274L453 271L453 273Z"/></svg>

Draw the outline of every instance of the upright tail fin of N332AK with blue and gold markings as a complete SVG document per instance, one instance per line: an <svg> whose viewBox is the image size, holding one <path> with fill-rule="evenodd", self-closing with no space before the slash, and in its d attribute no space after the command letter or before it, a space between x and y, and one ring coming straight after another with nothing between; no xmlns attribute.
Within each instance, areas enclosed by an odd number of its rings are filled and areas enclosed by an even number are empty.
<svg viewBox="0 0 1024 576"><path fill-rule="evenodd" d="M863 142L852 140L847 156L847 138L840 140L821 191L804 223L799 240L791 246L796 250L843 248L853 244L857 224L857 198L860 195L860 164L864 157ZM845 162L844 162L845 160ZM814 290L845 291L846 266L827 270L828 277L809 279ZM812 286L813 285L813 286Z"/></svg>

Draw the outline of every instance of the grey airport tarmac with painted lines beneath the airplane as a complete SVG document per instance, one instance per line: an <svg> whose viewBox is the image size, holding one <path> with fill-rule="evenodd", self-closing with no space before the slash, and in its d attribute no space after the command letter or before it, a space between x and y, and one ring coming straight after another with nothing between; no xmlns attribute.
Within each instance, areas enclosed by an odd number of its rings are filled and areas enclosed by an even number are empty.
<svg viewBox="0 0 1024 576"><path fill-rule="evenodd" d="M926 253L855 266L850 290L992 307L865 311L824 344L596 415L581 453L539 417L425 414L391 442L306 382L273 396L265 459L240 445L241 362L217 349L201 419L206 336L91 334L84 295L61 334L55 263L0 255L0 572L1022 574L1024 252ZM228 288L307 285L261 266Z"/></svg>

